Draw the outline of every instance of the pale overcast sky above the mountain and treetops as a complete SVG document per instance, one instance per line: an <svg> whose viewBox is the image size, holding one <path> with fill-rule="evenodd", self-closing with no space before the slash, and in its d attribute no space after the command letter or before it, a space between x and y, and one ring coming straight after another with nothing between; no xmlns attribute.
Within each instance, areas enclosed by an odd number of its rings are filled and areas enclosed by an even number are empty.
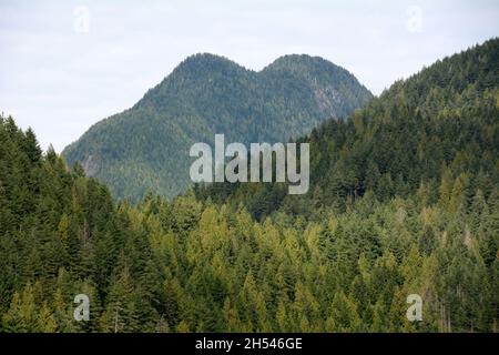
<svg viewBox="0 0 499 355"><path fill-rule="evenodd" d="M379 94L497 36L498 0L0 0L0 112L61 152L194 53L320 55Z"/></svg>

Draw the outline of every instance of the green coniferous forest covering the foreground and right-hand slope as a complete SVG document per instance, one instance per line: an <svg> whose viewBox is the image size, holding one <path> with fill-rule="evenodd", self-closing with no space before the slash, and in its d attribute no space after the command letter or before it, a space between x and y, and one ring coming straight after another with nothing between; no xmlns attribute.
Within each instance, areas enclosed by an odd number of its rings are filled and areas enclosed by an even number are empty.
<svg viewBox="0 0 499 355"><path fill-rule="evenodd" d="M0 331L497 332L498 55L489 40L316 126L305 195L114 200L2 116Z"/></svg>

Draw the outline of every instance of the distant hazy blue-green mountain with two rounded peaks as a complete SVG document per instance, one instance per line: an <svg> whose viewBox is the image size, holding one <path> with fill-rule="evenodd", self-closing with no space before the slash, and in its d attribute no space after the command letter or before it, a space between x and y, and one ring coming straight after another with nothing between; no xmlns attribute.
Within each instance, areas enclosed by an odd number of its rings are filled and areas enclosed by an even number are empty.
<svg viewBox="0 0 499 355"><path fill-rule="evenodd" d="M353 74L317 57L285 55L255 72L196 54L63 155L118 197L136 201L147 190L171 197L191 183L193 143L212 142L215 133L231 142L287 141L327 118L352 114L370 98Z"/></svg>

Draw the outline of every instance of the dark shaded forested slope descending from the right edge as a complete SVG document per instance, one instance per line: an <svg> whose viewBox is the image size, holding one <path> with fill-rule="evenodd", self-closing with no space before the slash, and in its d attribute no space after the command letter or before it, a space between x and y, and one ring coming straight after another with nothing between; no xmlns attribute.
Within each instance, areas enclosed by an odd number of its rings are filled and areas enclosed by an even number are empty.
<svg viewBox="0 0 499 355"><path fill-rule="evenodd" d="M395 82L347 120L328 120L299 139L310 143L307 195L291 196L279 183L196 191L242 203L259 220L275 211L320 217L319 210L344 211L367 191L387 201L427 189L438 200L442 179L468 193L477 184L490 192L499 181L498 106L499 39L492 39Z"/></svg>

